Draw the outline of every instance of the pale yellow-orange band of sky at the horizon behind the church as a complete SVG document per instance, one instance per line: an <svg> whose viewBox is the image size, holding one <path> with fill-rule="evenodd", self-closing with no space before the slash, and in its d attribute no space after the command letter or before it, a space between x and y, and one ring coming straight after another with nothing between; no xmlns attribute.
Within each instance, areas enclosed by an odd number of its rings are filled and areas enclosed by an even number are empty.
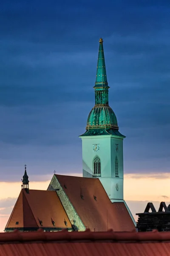
<svg viewBox="0 0 170 256"><path fill-rule="evenodd" d="M73 174L74 176L81 176ZM46 190L50 180L29 183L30 189ZM166 204L170 200L170 174L125 174L124 175L124 199L133 214L133 217L137 219L135 213L143 212L147 201L156 202L158 207L161 201L165 201ZM10 187L10 189L9 189ZM11 214L11 207L2 207L2 202L8 201L8 199L15 198L16 201L21 190L20 182L7 183L0 182L0 232L3 232L8 218ZM14 205L12 205L14 207ZM7 209L9 208L9 209ZM10 213L2 213L6 209Z"/></svg>

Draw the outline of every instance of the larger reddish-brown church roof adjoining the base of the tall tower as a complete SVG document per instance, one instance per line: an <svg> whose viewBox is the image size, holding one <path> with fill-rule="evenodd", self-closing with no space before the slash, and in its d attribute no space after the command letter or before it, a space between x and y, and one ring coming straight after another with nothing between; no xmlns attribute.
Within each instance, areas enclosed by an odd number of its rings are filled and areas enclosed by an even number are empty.
<svg viewBox="0 0 170 256"><path fill-rule="evenodd" d="M131 231L135 228L125 204L112 204L98 178L55 176L83 224L91 231Z"/></svg>

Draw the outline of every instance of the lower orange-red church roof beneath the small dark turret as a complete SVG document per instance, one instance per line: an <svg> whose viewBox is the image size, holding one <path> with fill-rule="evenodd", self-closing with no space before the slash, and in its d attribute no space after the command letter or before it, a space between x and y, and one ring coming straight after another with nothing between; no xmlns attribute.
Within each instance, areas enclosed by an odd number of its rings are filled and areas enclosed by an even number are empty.
<svg viewBox="0 0 170 256"><path fill-rule="evenodd" d="M6 228L21 227L52 227L52 220L55 227L68 227L71 223L55 191L29 189L29 194L22 189L11 216L6 224ZM18 224L16 222L18 221Z"/></svg>

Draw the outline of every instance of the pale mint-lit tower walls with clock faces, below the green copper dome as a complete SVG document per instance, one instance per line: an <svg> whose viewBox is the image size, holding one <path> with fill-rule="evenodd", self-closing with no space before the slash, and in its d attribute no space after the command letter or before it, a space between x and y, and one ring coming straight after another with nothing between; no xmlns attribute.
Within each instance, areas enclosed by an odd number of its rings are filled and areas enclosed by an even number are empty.
<svg viewBox="0 0 170 256"><path fill-rule="evenodd" d="M112 202L123 201L123 138L111 135L81 138L83 177L98 177ZM98 145L98 151L94 151L94 145ZM96 156L100 158L101 176L94 175ZM116 177L116 157L119 177Z"/></svg>

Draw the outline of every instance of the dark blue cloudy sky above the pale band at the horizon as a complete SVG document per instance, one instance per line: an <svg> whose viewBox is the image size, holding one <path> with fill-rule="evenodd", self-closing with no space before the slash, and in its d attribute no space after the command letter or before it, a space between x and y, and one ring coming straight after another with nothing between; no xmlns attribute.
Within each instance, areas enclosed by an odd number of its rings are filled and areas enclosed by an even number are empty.
<svg viewBox="0 0 170 256"><path fill-rule="evenodd" d="M100 37L125 173L169 172L169 14L169 0L3 1L0 180L25 163L30 180L82 172Z"/></svg>

